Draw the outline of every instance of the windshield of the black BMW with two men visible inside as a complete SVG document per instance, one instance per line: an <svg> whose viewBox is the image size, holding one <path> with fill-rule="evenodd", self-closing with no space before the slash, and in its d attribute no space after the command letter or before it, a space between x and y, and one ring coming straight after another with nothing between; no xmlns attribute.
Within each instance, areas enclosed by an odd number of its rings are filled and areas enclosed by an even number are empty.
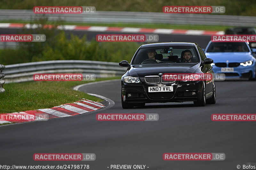
<svg viewBox="0 0 256 170"><path fill-rule="evenodd" d="M198 63L194 47L164 46L141 48L134 57L132 64L152 63Z"/></svg>

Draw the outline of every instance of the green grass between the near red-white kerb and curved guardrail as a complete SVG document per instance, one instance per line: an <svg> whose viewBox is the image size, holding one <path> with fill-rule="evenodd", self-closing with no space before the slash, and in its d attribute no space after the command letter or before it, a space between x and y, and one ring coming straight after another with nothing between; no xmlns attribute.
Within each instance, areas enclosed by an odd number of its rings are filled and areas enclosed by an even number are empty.
<svg viewBox="0 0 256 170"><path fill-rule="evenodd" d="M97 78L96 81L118 79ZM65 103L72 103L81 98L93 101L102 99L84 92L75 91L72 87L89 81L44 81L23 82L4 85L6 92L1 93L0 113L12 113L40 108L51 108Z"/></svg>

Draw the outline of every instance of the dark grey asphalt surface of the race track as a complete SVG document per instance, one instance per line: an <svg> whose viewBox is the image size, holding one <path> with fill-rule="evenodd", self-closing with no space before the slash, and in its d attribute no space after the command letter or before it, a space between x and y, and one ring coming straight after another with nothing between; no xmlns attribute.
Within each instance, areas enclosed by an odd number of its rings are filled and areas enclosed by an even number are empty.
<svg viewBox="0 0 256 170"><path fill-rule="evenodd" d="M15 29L0 29L15 33ZM70 31L83 35L88 32ZM67 32L69 33L69 32ZM90 32L93 37L102 32ZM210 36L161 35L160 41L196 41L202 48ZM174 39L174 40L173 40ZM0 165L81 165L107 170L110 165L146 165L149 170L233 170L256 162L255 122L212 122L213 113L255 113L256 82L216 82L217 103L146 104L122 109L120 80L79 90L115 102L111 108L42 122L0 126ZM97 113L157 113L158 121L99 122ZM166 152L225 153L224 161L164 161ZM34 161L34 153L95 153L95 161ZM242 169L242 168L241 168Z"/></svg>

